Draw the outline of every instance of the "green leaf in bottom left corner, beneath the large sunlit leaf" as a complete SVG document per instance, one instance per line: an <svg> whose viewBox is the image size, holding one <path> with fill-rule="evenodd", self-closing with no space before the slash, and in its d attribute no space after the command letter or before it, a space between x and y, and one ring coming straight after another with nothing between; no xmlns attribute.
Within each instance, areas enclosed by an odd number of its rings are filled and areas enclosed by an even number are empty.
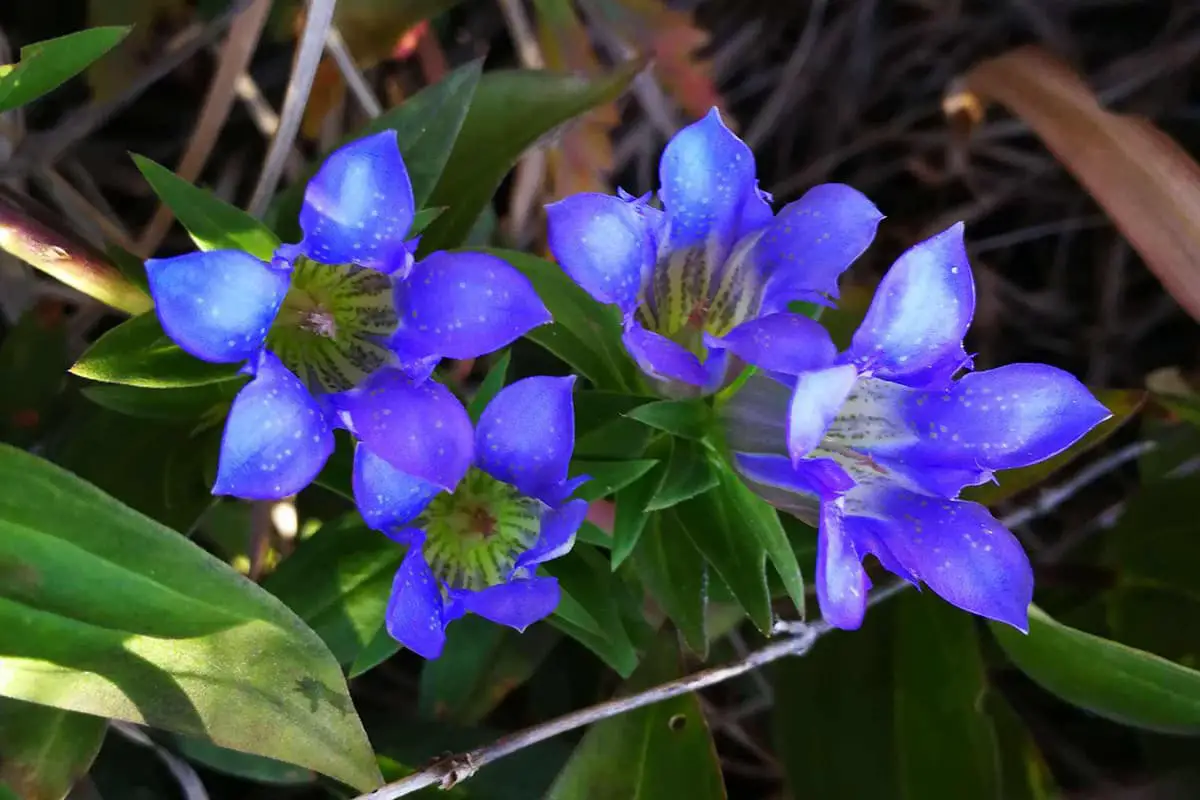
<svg viewBox="0 0 1200 800"><path fill-rule="evenodd" d="M62 800L107 729L103 717L0 697L0 786L24 800Z"/></svg>

